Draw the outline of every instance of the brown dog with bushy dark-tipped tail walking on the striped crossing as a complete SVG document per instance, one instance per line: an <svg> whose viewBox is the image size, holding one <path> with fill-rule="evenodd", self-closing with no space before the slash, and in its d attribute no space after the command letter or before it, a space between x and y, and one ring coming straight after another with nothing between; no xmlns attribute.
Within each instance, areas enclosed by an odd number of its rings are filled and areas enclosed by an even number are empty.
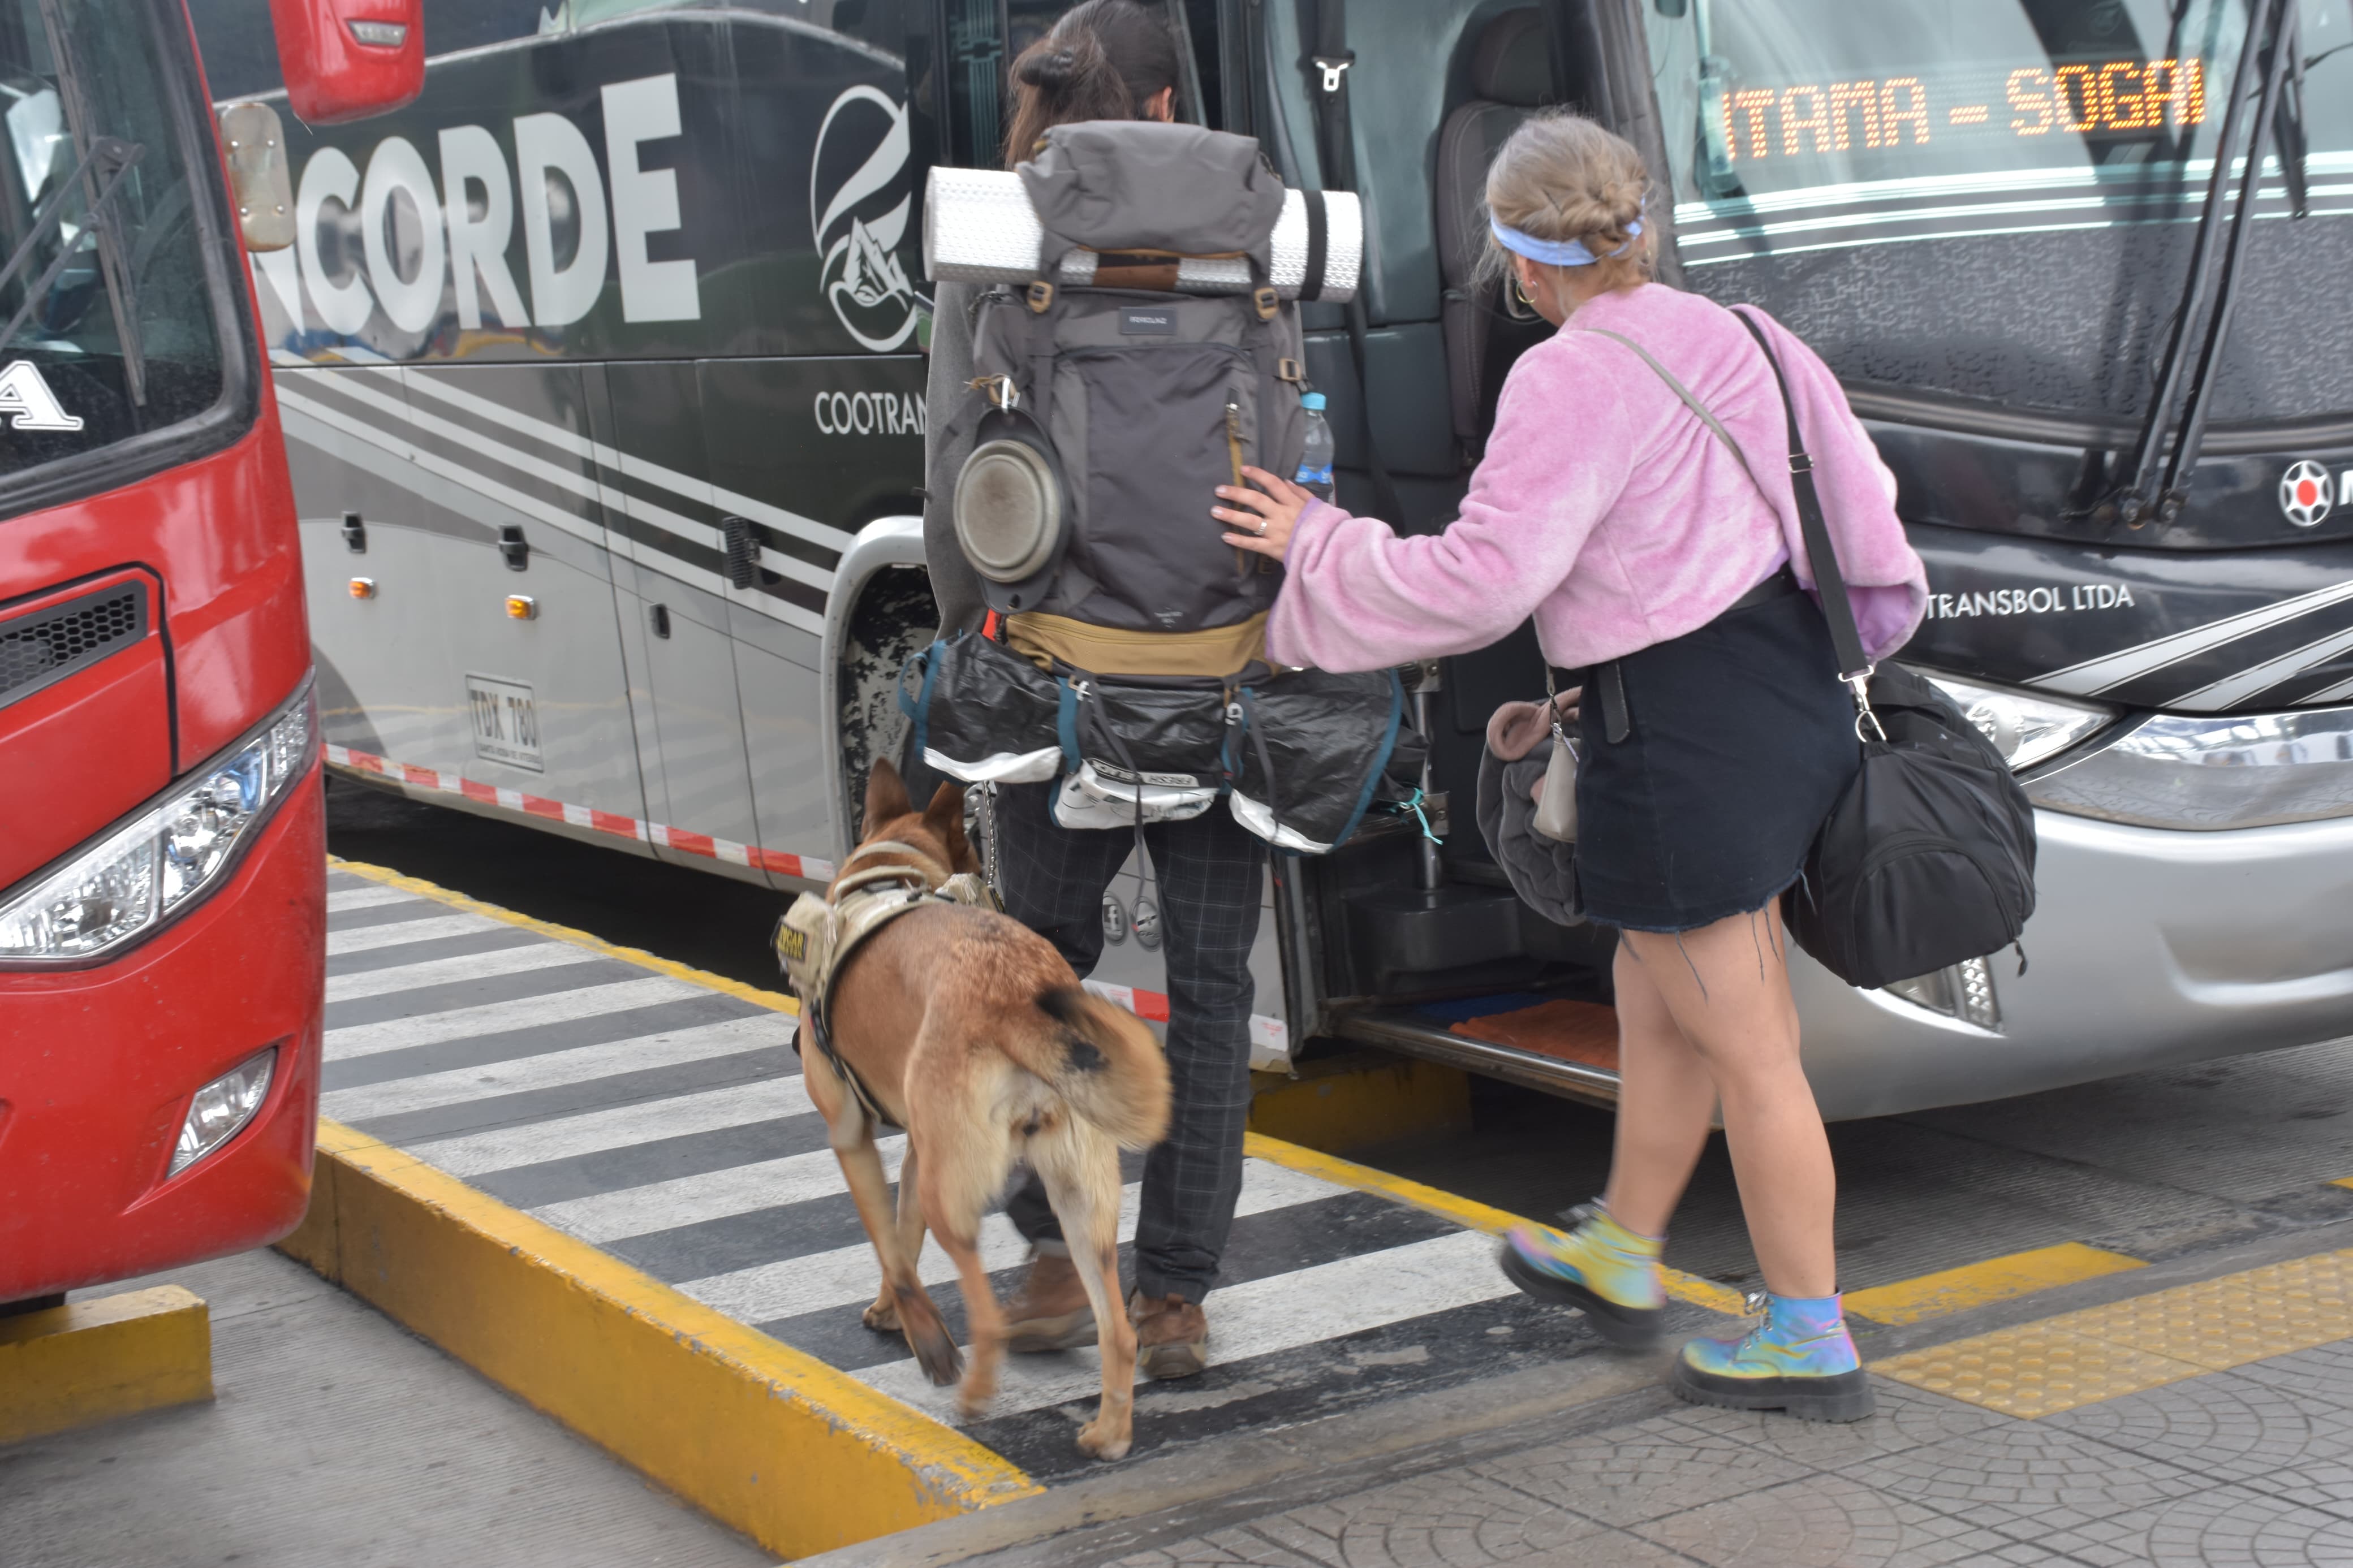
<svg viewBox="0 0 2353 1568"><path fill-rule="evenodd" d="M906 865L927 886L976 872L965 792L941 785L920 816L889 762L866 785L866 832L845 872ZM840 879L835 882L835 886ZM833 889L826 893L833 898ZM955 1260L972 1316L972 1366L958 1403L979 1415L998 1385L1005 1319L981 1267L981 1215L1028 1161L1045 1180L1094 1305L1104 1401L1078 1446L1118 1460L1134 1434L1136 1331L1120 1305L1120 1150L1160 1143L1169 1070L1132 1013L1078 985L1061 954L1019 922L951 903L920 905L875 931L833 983L833 1048L882 1114L906 1128L892 1220L875 1119L824 1051L800 1053L859 1220L882 1260L868 1328L899 1328L934 1385L960 1356L915 1274L929 1227Z"/></svg>

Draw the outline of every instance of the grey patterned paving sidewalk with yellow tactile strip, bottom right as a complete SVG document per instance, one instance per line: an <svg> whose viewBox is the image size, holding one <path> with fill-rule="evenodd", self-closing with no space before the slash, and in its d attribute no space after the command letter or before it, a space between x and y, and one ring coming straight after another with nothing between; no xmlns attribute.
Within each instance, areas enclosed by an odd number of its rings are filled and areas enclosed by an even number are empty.
<svg viewBox="0 0 2353 1568"><path fill-rule="evenodd" d="M2054 1295L2071 1300L2042 1298L2047 1316L2007 1302L1868 1333L1880 1413L1852 1427L1682 1406L1654 1380L1661 1352L1534 1420L1379 1453L1355 1441L1355 1460L1332 1427L1294 1443L1332 1465L1228 1474L1224 1490L1136 1469L814 1563L2353 1563L2353 1248ZM1487 1396L1501 1413L1525 1392ZM1118 1488L1172 1505L1136 1512Z"/></svg>

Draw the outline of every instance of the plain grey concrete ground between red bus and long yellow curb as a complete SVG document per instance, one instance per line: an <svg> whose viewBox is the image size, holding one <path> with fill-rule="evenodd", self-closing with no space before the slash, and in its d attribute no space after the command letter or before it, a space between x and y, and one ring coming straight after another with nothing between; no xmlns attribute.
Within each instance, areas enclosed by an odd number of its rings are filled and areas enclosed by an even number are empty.
<svg viewBox="0 0 2353 1568"><path fill-rule="evenodd" d="M209 1403L0 1448L7 1568L776 1561L278 1253L141 1284L212 1307Z"/></svg>

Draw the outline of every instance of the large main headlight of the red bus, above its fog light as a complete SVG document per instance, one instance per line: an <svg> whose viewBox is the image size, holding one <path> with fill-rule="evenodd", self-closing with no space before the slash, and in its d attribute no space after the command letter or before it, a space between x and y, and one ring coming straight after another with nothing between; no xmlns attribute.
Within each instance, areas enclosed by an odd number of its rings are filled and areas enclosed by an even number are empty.
<svg viewBox="0 0 2353 1568"><path fill-rule="evenodd" d="M186 910L219 886L315 755L304 679L245 741L0 900L0 969L87 961Z"/></svg>

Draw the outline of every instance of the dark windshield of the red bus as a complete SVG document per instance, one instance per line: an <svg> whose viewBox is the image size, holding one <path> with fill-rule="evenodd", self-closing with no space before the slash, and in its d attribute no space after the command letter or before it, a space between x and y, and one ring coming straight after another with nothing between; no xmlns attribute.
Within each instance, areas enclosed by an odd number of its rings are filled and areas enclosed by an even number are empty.
<svg viewBox="0 0 2353 1568"><path fill-rule="evenodd" d="M176 12L176 7L174 7ZM0 480L221 400L153 7L0 0Z"/></svg>

